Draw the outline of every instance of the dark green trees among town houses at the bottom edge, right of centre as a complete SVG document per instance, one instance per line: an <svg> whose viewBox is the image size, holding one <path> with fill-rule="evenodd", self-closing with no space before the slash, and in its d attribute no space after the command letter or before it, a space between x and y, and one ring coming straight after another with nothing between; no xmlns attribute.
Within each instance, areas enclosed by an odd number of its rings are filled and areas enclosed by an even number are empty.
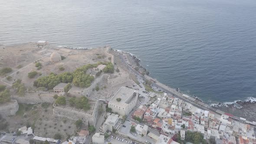
<svg viewBox="0 0 256 144"><path fill-rule="evenodd" d="M172 139L181 144L181 135L180 135L180 133L174 135L172 137ZM207 141L205 139L203 139L203 134L201 134L199 132L186 131L184 141L185 141L185 143L186 142L191 142L193 144L207 144Z"/></svg>

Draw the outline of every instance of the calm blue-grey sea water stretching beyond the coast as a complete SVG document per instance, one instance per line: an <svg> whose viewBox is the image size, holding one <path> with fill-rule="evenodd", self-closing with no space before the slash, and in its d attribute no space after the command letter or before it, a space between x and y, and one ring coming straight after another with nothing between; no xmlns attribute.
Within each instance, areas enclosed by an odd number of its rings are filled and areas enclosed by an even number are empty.
<svg viewBox="0 0 256 144"><path fill-rule="evenodd" d="M204 101L256 98L256 0L0 0L0 43L38 40L131 52Z"/></svg>

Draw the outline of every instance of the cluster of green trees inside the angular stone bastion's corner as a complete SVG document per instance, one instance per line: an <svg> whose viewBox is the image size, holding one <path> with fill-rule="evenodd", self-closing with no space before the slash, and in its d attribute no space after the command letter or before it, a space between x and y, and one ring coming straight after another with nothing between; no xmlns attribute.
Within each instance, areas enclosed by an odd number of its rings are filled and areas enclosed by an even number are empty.
<svg viewBox="0 0 256 144"><path fill-rule="evenodd" d="M89 100L84 96L81 98L70 98L69 105L72 107L74 106L75 108L84 109L85 111L91 108Z"/></svg>

